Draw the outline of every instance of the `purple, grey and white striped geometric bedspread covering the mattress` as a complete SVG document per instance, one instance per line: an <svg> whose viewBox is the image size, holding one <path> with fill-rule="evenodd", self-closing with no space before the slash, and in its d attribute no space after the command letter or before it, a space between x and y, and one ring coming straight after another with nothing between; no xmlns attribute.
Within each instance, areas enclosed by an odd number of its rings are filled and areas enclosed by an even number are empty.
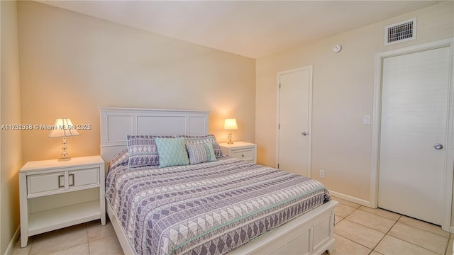
<svg viewBox="0 0 454 255"><path fill-rule="evenodd" d="M319 181L228 157L116 166L106 198L137 254L225 254L331 199Z"/></svg>

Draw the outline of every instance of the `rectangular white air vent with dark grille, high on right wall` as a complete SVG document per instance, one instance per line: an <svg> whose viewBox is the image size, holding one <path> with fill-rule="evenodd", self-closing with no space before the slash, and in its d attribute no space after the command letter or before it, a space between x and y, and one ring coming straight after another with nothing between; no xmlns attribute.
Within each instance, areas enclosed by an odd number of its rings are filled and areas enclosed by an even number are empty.
<svg viewBox="0 0 454 255"><path fill-rule="evenodd" d="M416 39L416 18L394 23L384 28L384 45Z"/></svg>

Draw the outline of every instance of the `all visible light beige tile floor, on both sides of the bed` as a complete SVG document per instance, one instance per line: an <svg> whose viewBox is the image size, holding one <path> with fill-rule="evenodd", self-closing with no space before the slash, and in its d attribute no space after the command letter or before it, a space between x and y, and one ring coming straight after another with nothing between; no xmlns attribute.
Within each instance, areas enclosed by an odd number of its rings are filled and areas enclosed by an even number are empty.
<svg viewBox="0 0 454 255"><path fill-rule="evenodd" d="M454 237L441 227L341 198L334 200L339 202L334 255L454 255ZM20 244L18 240L12 254L123 254L111 223L101 226L99 220L30 237L23 249Z"/></svg>

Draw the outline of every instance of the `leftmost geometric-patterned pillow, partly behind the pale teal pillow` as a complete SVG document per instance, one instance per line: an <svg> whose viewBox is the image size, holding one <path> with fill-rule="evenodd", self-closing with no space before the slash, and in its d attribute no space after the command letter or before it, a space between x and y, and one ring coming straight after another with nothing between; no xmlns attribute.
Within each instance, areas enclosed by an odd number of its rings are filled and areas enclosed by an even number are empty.
<svg viewBox="0 0 454 255"><path fill-rule="evenodd" d="M128 145L128 168L138 166L159 166L155 138L172 136L126 135Z"/></svg>

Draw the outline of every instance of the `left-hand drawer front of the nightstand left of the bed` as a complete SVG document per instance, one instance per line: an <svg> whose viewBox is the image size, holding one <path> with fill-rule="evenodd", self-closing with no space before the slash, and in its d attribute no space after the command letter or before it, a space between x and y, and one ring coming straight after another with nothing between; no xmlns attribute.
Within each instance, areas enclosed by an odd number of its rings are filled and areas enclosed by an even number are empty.
<svg viewBox="0 0 454 255"><path fill-rule="evenodd" d="M65 190L65 172L27 176L28 196L37 193Z"/></svg>

